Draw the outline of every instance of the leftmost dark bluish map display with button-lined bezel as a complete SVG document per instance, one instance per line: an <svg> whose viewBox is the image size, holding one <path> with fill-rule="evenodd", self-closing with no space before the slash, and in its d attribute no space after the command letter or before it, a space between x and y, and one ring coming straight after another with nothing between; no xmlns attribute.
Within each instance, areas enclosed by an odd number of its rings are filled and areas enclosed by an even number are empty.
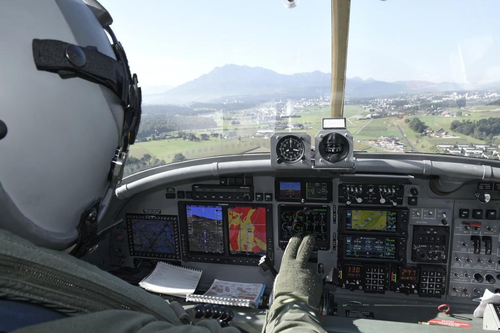
<svg viewBox="0 0 500 333"><path fill-rule="evenodd" d="M181 258L177 216L126 214L130 255Z"/></svg>

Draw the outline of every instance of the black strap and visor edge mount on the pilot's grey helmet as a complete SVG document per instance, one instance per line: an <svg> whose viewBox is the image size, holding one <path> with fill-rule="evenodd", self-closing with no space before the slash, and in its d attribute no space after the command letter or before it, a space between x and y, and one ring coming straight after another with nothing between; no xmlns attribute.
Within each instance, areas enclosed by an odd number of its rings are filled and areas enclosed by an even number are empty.
<svg viewBox="0 0 500 333"><path fill-rule="evenodd" d="M141 88L137 75L130 71L127 56L111 28L117 60L100 53L96 47L66 43L53 39L33 39L33 59L38 70L58 73L62 79L82 78L109 88L121 101L124 110L122 134L109 171L110 187L121 182L129 145L137 136L141 116Z"/></svg>

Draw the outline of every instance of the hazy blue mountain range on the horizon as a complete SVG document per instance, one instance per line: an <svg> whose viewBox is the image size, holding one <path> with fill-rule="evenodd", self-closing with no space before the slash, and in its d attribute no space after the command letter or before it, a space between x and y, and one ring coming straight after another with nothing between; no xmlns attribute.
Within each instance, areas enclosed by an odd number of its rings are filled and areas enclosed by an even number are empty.
<svg viewBox="0 0 500 333"><path fill-rule="evenodd" d="M272 99L329 96L331 74L321 71L280 74L262 67L224 65L163 93L144 94L144 104L220 103L226 100L263 102ZM494 84L495 88L500 84ZM488 87L489 88L489 87ZM486 89L457 83L428 81L384 82L374 79L346 79L345 96L380 97L395 94Z"/></svg>

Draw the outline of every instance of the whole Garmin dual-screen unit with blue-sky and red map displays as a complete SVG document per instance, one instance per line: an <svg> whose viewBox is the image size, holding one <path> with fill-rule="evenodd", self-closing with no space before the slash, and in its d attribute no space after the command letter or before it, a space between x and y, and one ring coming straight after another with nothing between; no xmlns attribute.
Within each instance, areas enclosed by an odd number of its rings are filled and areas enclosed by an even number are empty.
<svg viewBox="0 0 500 333"><path fill-rule="evenodd" d="M272 214L266 204L179 203L183 260L257 265L272 261Z"/></svg>

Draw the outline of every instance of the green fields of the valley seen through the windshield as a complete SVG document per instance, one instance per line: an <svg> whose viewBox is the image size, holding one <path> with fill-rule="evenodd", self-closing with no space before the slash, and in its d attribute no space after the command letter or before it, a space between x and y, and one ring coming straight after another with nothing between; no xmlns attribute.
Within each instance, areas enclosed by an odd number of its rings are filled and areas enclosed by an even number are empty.
<svg viewBox="0 0 500 333"><path fill-rule="evenodd" d="M458 109L449 110L451 114L455 114ZM488 117L500 117L500 107L484 106L474 107L471 109L461 110L462 113L469 116L460 117L442 117L442 116L426 116L426 115L411 115L408 119L418 117L425 122L430 129L439 130L443 128L445 131L452 132L450 129L451 123L454 120L478 120ZM438 144L467 144L467 143L484 143L469 136L460 133L455 135L460 138L437 138L423 136L409 129L408 123L404 119L397 117L387 117L379 119L363 119L357 120L357 116L365 116L369 112L360 106L346 105L344 106L344 117L347 118L347 129L354 134L355 149L359 151L384 151L381 148L373 147L367 143L359 142L361 140L373 140L380 136L395 136L401 139L408 146L405 150L411 150L410 144L415 147L416 151L420 152L442 152L436 147ZM307 132L314 138L321 128L321 119L330 117L329 107L310 107L305 111L295 113L300 117L283 118L280 122L289 122L290 124L301 123L310 129L301 132ZM210 137L207 141L185 141L183 139L167 139L155 140L147 142L138 142L131 146L131 156L141 158L145 154L157 157L170 163L177 153L182 153L187 159L197 159L209 156L226 155L243 153L257 149L256 151L268 151L269 139L252 138L253 134L258 130L268 130L273 128L272 124L256 124L253 116L245 112L214 112L209 114L217 123L217 127L205 129L203 131L193 131L192 133L199 136L202 133L227 133L236 132L237 137L232 139L219 139ZM223 118L226 118L224 120ZM228 119L231 118L231 119ZM233 125L233 120L239 121L238 125ZM398 124L401 127L401 131ZM290 132L288 130L283 132ZM403 132L403 133L402 133ZM314 142L314 139L313 139Z"/></svg>

